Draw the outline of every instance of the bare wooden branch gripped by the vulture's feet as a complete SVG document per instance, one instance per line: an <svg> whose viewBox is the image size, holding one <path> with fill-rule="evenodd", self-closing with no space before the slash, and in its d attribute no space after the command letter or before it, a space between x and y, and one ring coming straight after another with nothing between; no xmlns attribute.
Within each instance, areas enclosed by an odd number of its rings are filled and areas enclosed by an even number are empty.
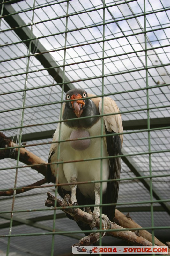
<svg viewBox="0 0 170 256"><path fill-rule="evenodd" d="M47 200L45 202L45 205L48 207L53 206L54 207L54 203L55 203L55 197L53 195L51 195L50 192L47 193L48 197ZM92 222L92 214L89 214L87 212L84 212L83 210L79 209L79 208L75 208L74 211L72 211L71 208L68 209L67 204L65 202L65 200L60 200L57 198L57 206L58 207L62 207L62 211L70 214L71 216L73 216L73 218L76 221L83 221L87 224L91 224ZM69 206L72 206L72 204L69 204ZM99 228L100 227L100 219L98 218L97 223L96 223L96 227ZM104 228L103 224L102 224L102 228ZM131 226L132 228L132 226ZM121 226L117 225L116 223L111 224L111 229L117 229L116 231L109 231L107 229L107 232L105 233L105 235L107 236L113 236L116 238L120 238L123 239L127 242L129 242L130 244L133 245L144 245L144 246L151 246L152 242L146 240L144 237L142 236L137 236L135 234L135 232L129 231L129 230L119 230L119 229L123 229ZM93 235L95 237L93 237ZM92 233L89 236L86 236L84 238L82 238L80 240L80 242L76 245L90 245L92 243L94 243L94 241L96 241L96 239L98 239L99 235L96 235L96 233ZM162 245L162 244L161 244ZM165 246L165 244L164 244ZM170 255L170 254L169 254Z"/></svg>

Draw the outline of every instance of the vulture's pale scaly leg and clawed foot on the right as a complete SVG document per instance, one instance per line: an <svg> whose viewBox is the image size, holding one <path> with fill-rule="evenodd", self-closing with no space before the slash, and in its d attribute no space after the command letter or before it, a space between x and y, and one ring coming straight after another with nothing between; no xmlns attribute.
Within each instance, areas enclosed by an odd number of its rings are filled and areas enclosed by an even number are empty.
<svg viewBox="0 0 170 256"><path fill-rule="evenodd" d="M94 193L95 193L95 204L100 204L100 184L95 183L94 186ZM92 223L90 225L90 228L93 229L96 226L97 218L100 217L100 207L95 206L94 211L92 213L93 218L92 218ZM107 215L102 214L101 215L102 219L106 222L106 227L109 226L111 228L111 221L107 217Z"/></svg>

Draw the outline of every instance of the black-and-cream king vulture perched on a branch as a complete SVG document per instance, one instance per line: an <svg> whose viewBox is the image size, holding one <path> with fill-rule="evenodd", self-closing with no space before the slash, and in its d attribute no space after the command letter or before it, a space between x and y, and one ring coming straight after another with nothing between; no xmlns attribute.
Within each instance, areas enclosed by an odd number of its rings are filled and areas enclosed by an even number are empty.
<svg viewBox="0 0 170 256"><path fill-rule="evenodd" d="M102 189L101 217L110 225L119 191L119 180L115 179L120 178L121 171L123 127L119 108L110 97L98 97L82 88L72 89L66 93L60 120L48 157L47 181L61 184L58 193L67 203L70 195L73 205L78 204L92 214L90 226L77 222L82 230L96 226ZM111 181L101 185L101 179ZM93 207L83 208L87 204Z"/></svg>

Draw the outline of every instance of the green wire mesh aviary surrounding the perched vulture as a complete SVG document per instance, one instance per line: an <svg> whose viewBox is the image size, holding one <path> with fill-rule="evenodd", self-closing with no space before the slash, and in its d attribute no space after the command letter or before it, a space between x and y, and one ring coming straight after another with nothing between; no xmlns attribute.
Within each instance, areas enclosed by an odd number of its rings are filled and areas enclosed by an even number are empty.
<svg viewBox="0 0 170 256"><path fill-rule="evenodd" d="M1 0L0 10L0 255L71 255L84 236L63 211L44 205L47 192L56 191L45 183L44 170L52 136L65 94L74 88L118 105L123 147L117 209L130 212L152 243L156 236L165 244L169 1ZM39 163L22 161L27 152ZM100 244L127 242L107 236Z"/></svg>

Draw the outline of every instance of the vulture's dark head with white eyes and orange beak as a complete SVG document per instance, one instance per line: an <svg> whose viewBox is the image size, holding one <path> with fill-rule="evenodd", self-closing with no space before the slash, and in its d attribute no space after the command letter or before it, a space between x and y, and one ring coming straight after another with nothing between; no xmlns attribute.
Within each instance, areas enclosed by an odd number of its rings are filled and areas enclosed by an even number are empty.
<svg viewBox="0 0 170 256"><path fill-rule="evenodd" d="M81 116L83 109L87 106L88 99L84 99L86 97L87 92L82 89L73 89L66 93L66 100L69 100L66 102L66 105L75 113L77 117Z"/></svg>

